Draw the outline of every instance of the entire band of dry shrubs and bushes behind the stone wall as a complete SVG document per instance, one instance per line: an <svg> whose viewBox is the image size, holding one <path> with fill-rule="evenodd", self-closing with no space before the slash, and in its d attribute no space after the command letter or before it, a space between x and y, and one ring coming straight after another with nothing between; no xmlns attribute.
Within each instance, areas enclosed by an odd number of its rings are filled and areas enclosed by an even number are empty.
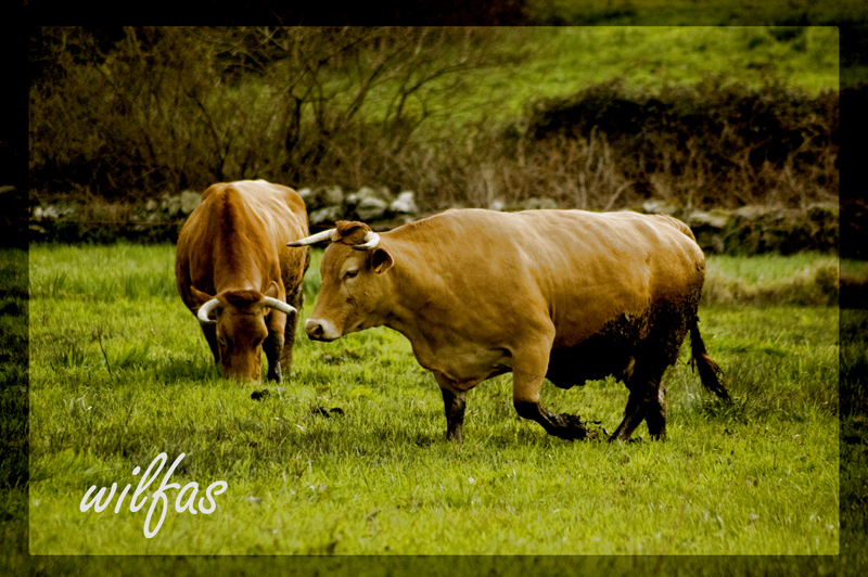
<svg viewBox="0 0 868 577"><path fill-rule="evenodd" d="M837 92L718 78L652 93L612 80L503 118L502 97L480 86L510 81L529 57L516 48L527 31L34 34L30 176L42 201L142 201L244 178L410 187L423 210L540 195L592 209L838 197Z"/></svg>

